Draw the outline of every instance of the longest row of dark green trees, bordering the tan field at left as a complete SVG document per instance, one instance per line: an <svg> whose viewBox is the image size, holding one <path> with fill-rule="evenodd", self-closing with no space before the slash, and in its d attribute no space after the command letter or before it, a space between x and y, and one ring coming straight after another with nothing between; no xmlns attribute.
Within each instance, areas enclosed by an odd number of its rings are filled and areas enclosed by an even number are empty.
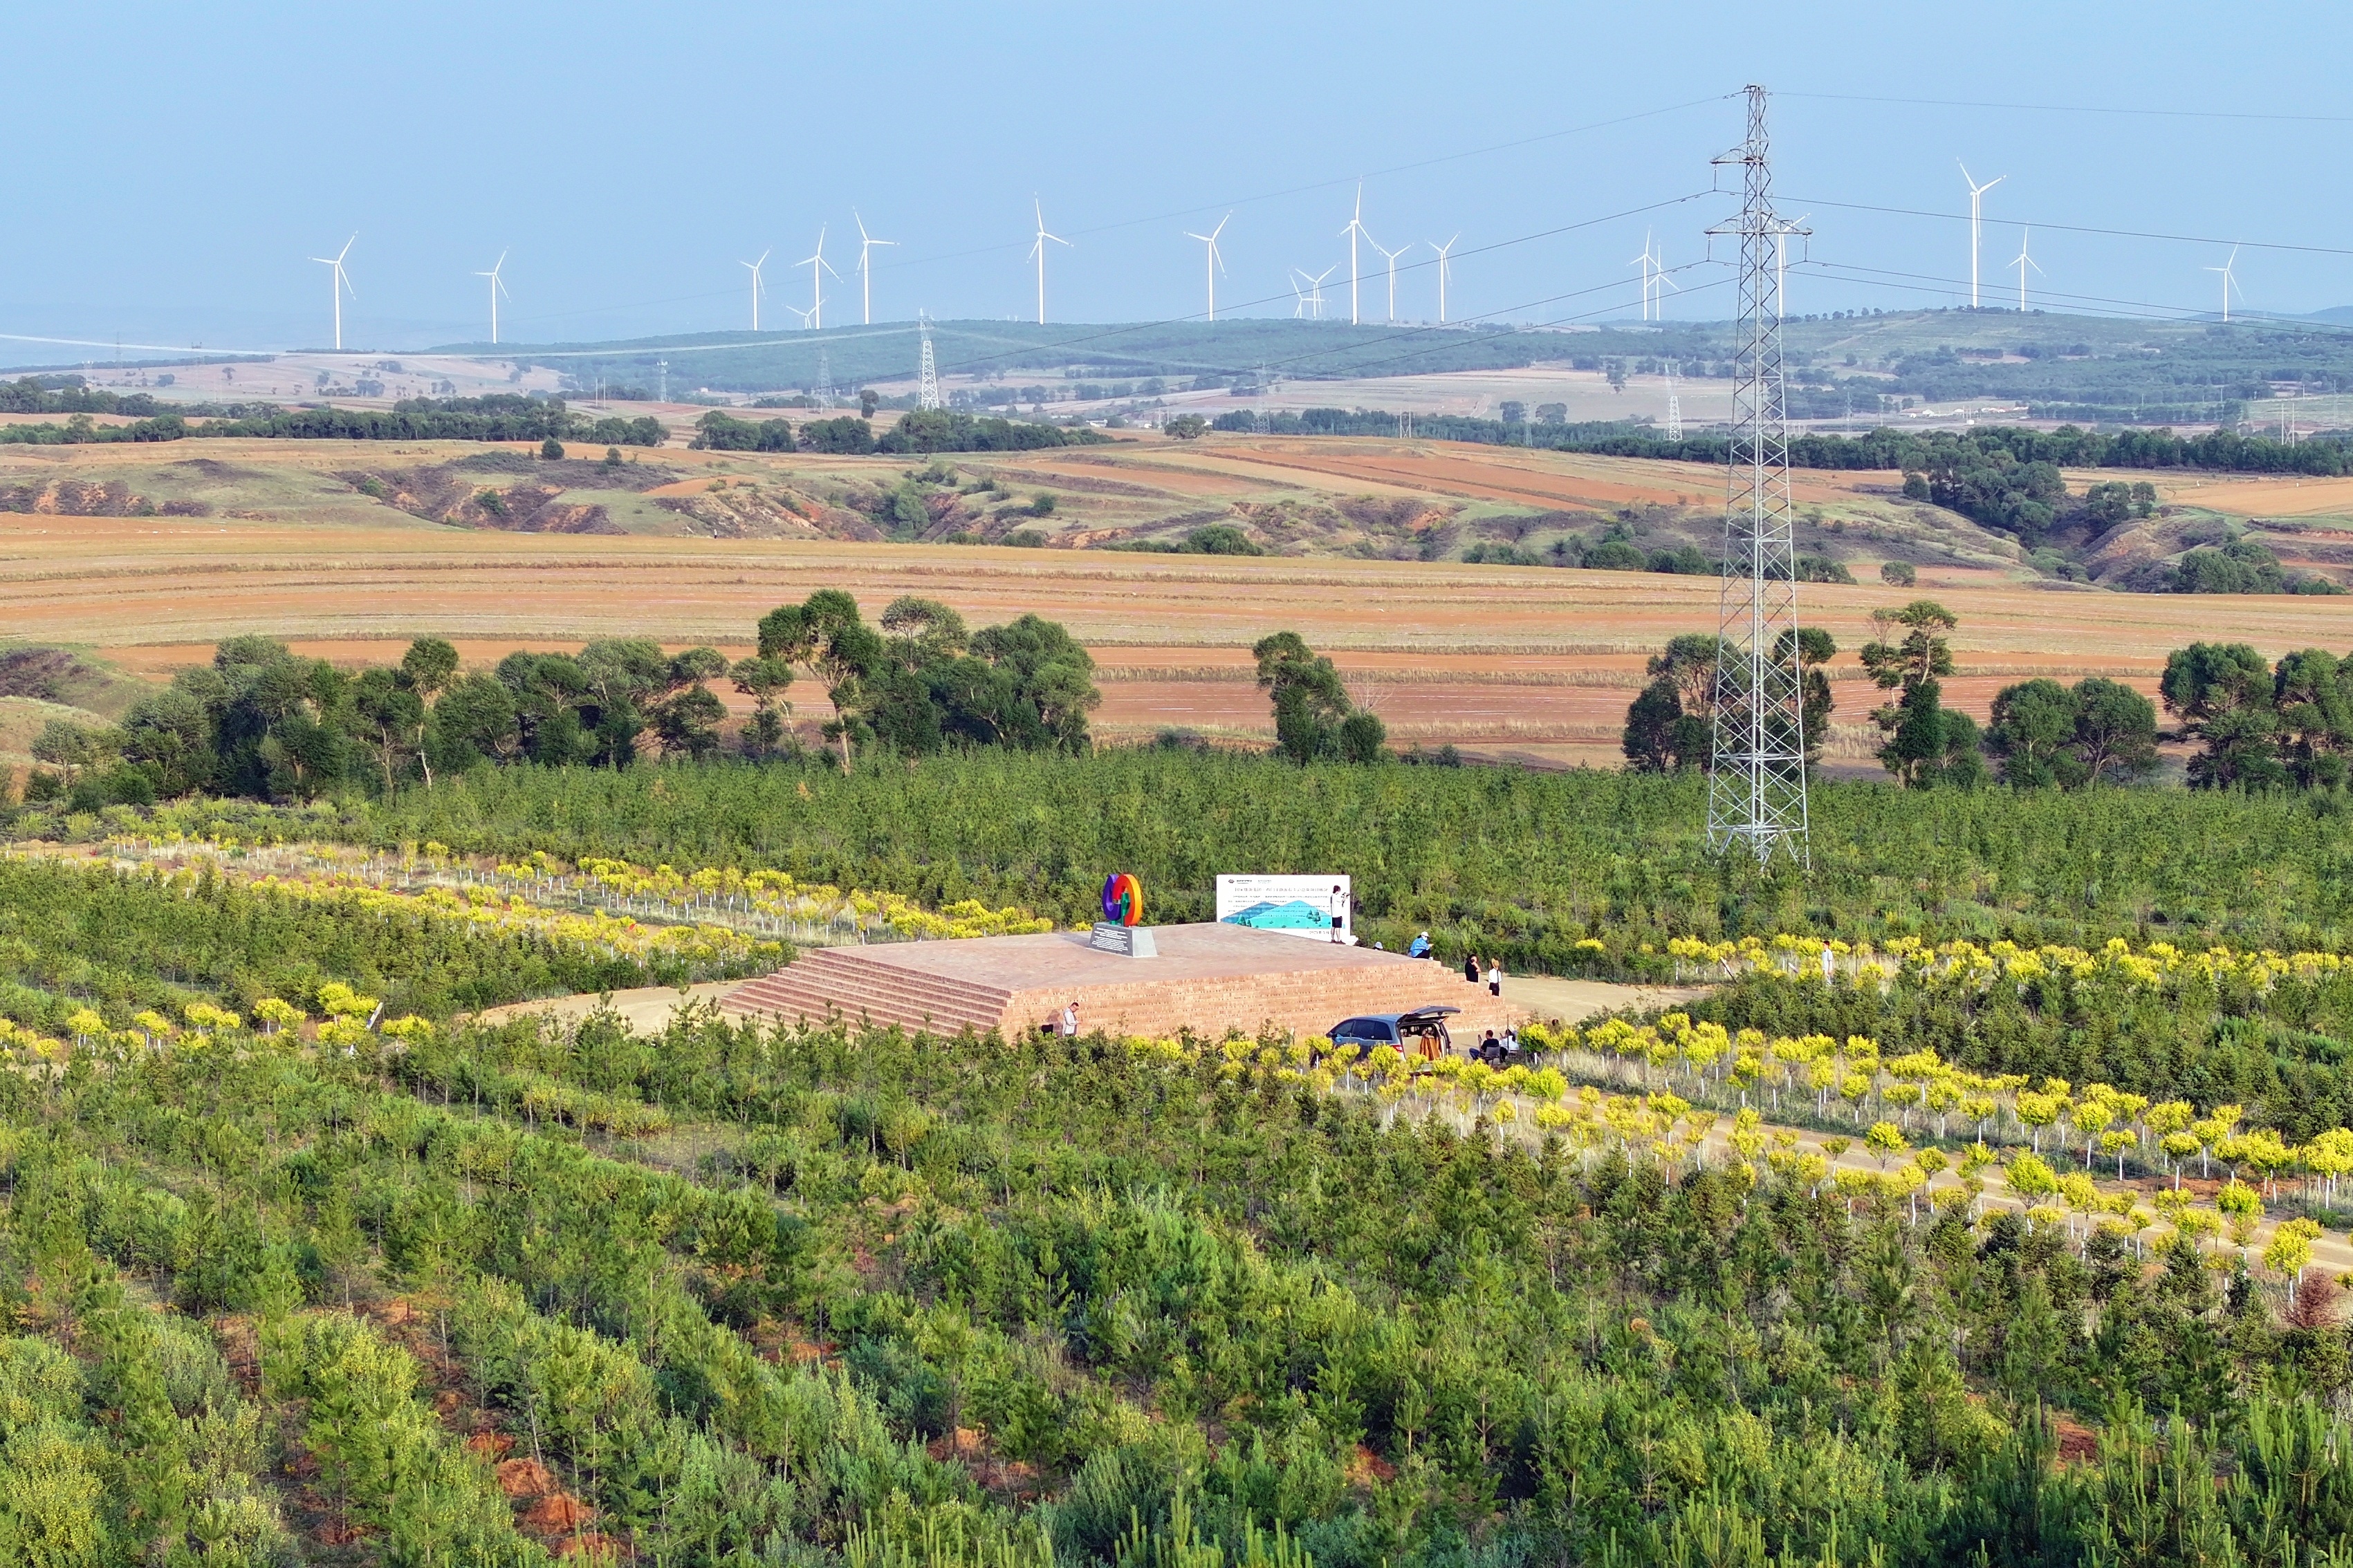
<svg viewBox="0 0 2353 1568"><path fill-rule="evenodd" d="M847 769L859 748L899 755L1000 745L1087 750L1101 703L1094 658L1059 623L1021 616L972 632L946 604L894 599L880 625L840 590L762 616L758 651L664 654L645 637L605 637L579 654L515 651L461 670L440 637L400 663L339 670L273 637L231 637L212 663L139 698L113 729L49 722L26 802L155 804L184 795L318 799L391 795L475 766L626 769L640 759L713 762L727 752L727 705L753 701L734 736L751 759L802 755L788 729L795 672L833 705L819 726Z"/></svg>

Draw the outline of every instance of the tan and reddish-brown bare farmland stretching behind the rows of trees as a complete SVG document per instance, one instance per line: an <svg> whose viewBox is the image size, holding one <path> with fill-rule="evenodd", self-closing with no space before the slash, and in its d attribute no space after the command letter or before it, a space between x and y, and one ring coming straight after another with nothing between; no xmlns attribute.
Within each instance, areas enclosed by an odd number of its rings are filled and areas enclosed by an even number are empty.
<svg viewBox="0 0 2353 1568"><path fill-rule="evenodd" d="M0 449L0 482L59 473L127 473L134 461L186 463L188 447ZM433 456L452 449L435 447ZM671 646L746 649L767 609L816 588L847 588L878 614L899 595L953 604L972 623L1035 611L1066 623L1101 663L1096 731L1111 741L1191 729L1268 736L1249 644L1297 630L1334 654L1358 701L1398 741L1457 743L1478 755L1614 762L1617 729L1642 661L1675 632L1715 625L1713 578L1640 571L1473 567L1341 555L1198 557L1068 548L861 543L852 538L699 538L685 534L515 534L442 527L372 505L313 508L296 480L355 461L351 447L294 449L207 442L200 454L261 475L256 505L207 517L0 515L0 628L7 642L71 644L151 679L202 661L233 632L285 637L339 663L386 661L407 639L440 635L473 665L515 646L576 646L645 635ZM395 454L365 454L393 458ZM402 461L419 461L409 447ZM664 451L687 470L744 473L748 454ZM814 470L904 473L887 458L786 458ZM965 458L958 458L965 465ZM969 461L981 468L981 458ZM864 465L864 468L861 468ZM887 465L887 468L885 468ZM1125 505L1127 489L1195 498L1400 496L1431 505L1518 508L1708 505L1715 470L1558 454L1494 454L1438 442L1259 440L1160 444L986 461L1007 487L1049 484L1066 510ZM1111 482L1106 491L1087 480ZM1864 517L1892 475L1800 475L1800 503ZM864 480L873 482L873 480ZM1071 489L1064 489L1071 487ZM346 487L348 489L348 487ZM2285 487L2282 487L2285 489ZM2275 510L2278 489L2266 487ZM2214 505L2214 501L2205 501ZM1920 508L1927 510L1927 508ZM235 515L245 512L245 515ZM1852 649L1873 609L1934 595L1960 614L1962 675L1948 698L1984 715L2014 679L2113 675L2153 689L2165 654L2200 637L2266 654L2353 646L2353 599L2169 597L2047 585L1967 541L1955 520L1948 559L1920 567L1918 590L1807 585L1805 618L1831 630L1838 661L1833 755L1868 755L1878 693ZM1984 545L1984 548L1979 548ZM1984 562L1984 564L1977 564ZM1864 567L1864 562L1857 562ZM1864 576L1864 571L1857 571ZM802 682L795 712L824 712Z"/></svg>

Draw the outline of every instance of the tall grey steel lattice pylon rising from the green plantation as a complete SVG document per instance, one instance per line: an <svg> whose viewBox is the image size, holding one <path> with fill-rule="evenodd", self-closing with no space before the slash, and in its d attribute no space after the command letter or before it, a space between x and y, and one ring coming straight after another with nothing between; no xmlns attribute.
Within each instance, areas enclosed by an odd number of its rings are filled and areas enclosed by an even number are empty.
<svg viewBox="0 0 2353 1568"><path fill-rule="evenodd" d="M1805 677L1798 663L1798 536L1788 503L1788 411L1781 402L1779 247L1765 89L1748 89L1748 141L1718 158L1741 169L1741 320L1732 369L1732 473L1725 496L1722 649L1715 661L1708 846L1746 844L1807 865Z"/></svg>

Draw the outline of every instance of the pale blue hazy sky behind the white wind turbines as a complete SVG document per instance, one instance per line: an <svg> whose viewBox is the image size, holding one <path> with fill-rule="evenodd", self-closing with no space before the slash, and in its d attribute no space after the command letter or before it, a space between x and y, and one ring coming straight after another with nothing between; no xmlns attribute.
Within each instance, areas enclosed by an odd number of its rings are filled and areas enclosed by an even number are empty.
<svg viewBox="0 0 2353 1568"><path fill-rule="evenodd" d="M2038 303L2209 310L2202 268L2245 240L2242 308L2301 313L2353 303L2348 42L2346 7L2146 0L42 5L0 61L0 331L325 346L308 256L351 233L348 346L487 336L471 273L501 249L508 341L741 329L736 263L767 247L762 327L786 327L819 223L840 324L852 207L899 242L875 252L875 320L1026 317L1033 193L1075 242L1047 259L1052 320L1198 313L1184 230L1228 209L1221 313L1289 315L1287 270L1337 268L1346 317L1360 174L1372 237L1412 244L1405 320L1435 317L1426 242L1454 233L1457 320L1628 317L1645 230L1687 268L1668 315L1722 317L1704 230L1734 202L1678 197L1711 188L1751 80L1777 94L1784 212L1814 228L1793 313L1965 299L1955 158L2007 176L1988 303L2017 301L2035 223ZM1360 266L1381 320L1381 263ZM0 341L0 362L85 355Z"/></svg>

